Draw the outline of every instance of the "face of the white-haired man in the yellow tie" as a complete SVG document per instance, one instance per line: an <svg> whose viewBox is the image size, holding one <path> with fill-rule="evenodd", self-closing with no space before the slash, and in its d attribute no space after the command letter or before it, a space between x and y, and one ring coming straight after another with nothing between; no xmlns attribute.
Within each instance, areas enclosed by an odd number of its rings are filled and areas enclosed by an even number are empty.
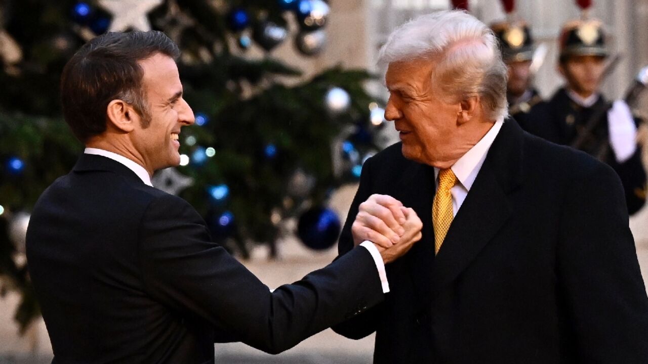
<svg viewBox="0 0 648 364"><path fill-rule="evenodd" d="M389 101L385 119L393 120L400 133L402 154L407 159L449 168L465 154L488 128L476 128L479 109L469 120L462 117L461 101L442 99L432 82L434 62L413 60L389 63L385 76ZM492 123L491 123L492 126Z"/></svg>

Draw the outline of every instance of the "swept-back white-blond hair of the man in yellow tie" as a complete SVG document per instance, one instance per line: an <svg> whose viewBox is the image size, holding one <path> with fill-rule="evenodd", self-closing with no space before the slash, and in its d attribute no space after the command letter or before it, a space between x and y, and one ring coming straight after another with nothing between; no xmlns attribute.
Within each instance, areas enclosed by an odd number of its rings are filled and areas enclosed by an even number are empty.
<svg viewBox="0 0 648 364"><path fill-rule="evenodd" d="M486 117L508 115L507 67L497 38L476 17L459 10L419 16L394 30L378 63L426 59L437 62L434 84L452 102L480 97Z"/></svg>

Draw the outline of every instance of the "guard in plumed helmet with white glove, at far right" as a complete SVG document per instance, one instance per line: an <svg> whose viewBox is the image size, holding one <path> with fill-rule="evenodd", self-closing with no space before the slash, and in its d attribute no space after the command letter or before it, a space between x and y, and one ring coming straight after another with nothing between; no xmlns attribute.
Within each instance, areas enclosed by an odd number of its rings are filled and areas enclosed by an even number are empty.
<svg viewBox="0 0 648 364"><path fill-rule="evenodd" d="M603 24L596 19L569 21L562 27L558 70L566 85L549 100L549 119L537 124L536 134L610 165L623 184L628 212L634 214L646 197L639 120L623 100L608 102L601 95L606 43Z"/></svg>

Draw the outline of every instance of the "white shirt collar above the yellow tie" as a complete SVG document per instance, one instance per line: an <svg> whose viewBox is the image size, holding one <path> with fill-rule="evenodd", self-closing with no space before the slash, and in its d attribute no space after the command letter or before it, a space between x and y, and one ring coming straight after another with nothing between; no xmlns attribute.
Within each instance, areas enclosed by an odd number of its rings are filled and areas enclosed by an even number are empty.
<svg viewBox="0 0 648 364"><path fill-rule="evenodd" d="M498 119L491 127L491 130L452 165L452 172L454 172L454 175L467 191L470 190L472 183L477 178L481 165L483 165L486 159L486 154L488 154L495 137L500 133L503 124L504 119ZM437 178L438 176L439 168L434 167L434 177Z"/></svg>

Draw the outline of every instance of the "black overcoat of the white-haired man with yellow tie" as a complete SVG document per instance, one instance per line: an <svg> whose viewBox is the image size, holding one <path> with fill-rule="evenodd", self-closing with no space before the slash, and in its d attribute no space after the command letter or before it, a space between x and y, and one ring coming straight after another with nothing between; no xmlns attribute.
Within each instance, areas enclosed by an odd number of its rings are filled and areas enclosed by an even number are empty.
<svg viewBox="0 0 648 364"><path fill-rule="evenodd" d="M434 255L434 169L395 144L369 159L340 237L371 194L412 207L422 240L391 292L334 328L376 332L375 363L648 362L648 297L614 171L507 120Z"/></svg>

